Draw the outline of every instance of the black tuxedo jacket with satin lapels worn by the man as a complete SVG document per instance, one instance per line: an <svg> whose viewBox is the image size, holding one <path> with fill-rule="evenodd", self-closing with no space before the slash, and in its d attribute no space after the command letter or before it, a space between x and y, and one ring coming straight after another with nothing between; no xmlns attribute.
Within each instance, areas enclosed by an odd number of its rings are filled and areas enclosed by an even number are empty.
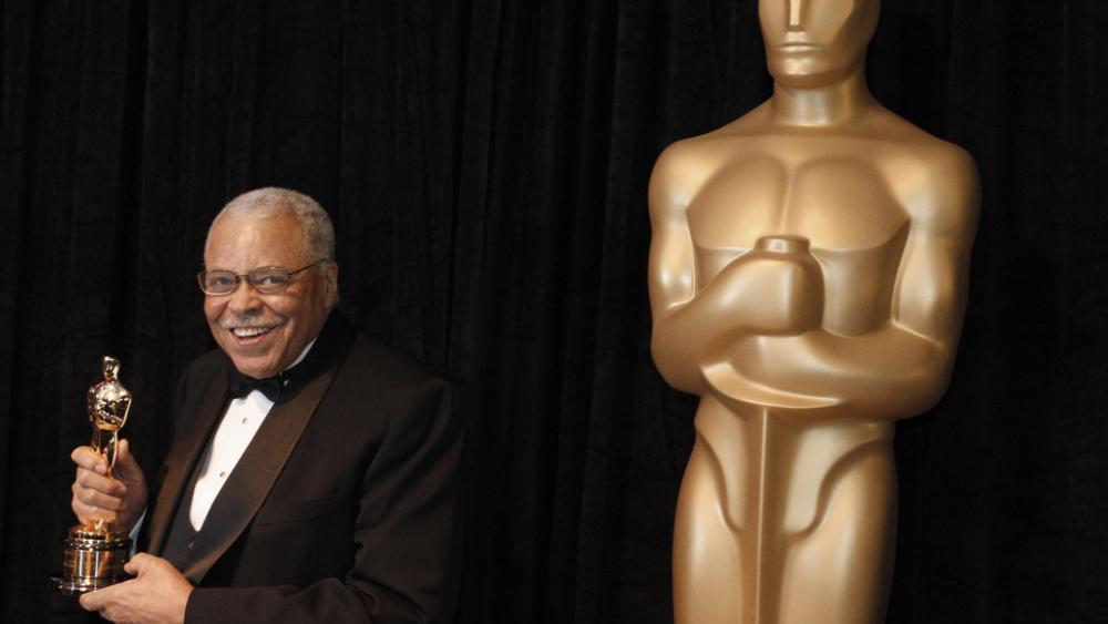
<svg viewBox="0 0 1108 624"><path fill-rule="evenodd" d="M228 401L222 351L193 361L144 530L162 553ZM332 313L289 371L182 572L186 622L444 622L461 575L461 426L449 386Z"/></svg>

